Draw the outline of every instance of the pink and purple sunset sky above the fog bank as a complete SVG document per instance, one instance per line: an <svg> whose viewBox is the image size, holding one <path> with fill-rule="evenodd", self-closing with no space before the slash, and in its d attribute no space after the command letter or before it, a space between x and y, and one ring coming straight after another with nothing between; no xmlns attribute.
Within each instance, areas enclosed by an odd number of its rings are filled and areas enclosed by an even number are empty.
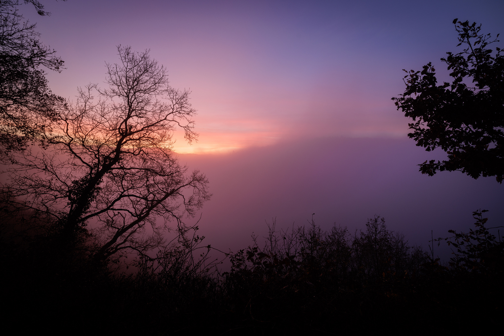
<svg viewBox="0 0 504 336"><path fill-rule="evenodd" d="M504 31L502 3L483 3L69 0L47 2L50 17L26 16L66 60L68 69L48 79L70 99L78 86L103 82L116 45L151 49L199 110L199 142L178 141L175 151L205 153L403 137L408 120L390 100L404 89L401 70L453 50L454 17Z"/></svg>

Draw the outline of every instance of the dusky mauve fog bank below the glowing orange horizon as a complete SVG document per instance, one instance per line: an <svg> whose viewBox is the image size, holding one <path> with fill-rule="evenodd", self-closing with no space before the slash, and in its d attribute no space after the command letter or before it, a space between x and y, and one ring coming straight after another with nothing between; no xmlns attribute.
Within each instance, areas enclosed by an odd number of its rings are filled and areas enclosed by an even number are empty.
<svg viewBox="0 0 504 336"><path fill-rule="evenodd" d="M489 210L490 227L501 225L497 219L504 215L504 186L494 177L418 172L417 164L444 156L407 138L325 138L179 159L210 181L213 196L201 211L199 234L216 248L246 247L250 235L264 236L266 222L275 218L287 228L315 214L323 228L336 223L351 231L380 215L390 229L428 249L431 230L434 238L449 229L467 231L477 209ZM446 259L449 252L442 244L435 253Z"/></svg>

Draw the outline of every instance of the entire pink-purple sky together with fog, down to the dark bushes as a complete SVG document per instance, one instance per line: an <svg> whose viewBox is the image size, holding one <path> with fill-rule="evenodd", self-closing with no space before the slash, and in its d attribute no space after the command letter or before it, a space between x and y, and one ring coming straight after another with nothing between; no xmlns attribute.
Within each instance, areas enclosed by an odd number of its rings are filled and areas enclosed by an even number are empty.
<svg viewBox="0 0 504 336"><path fill-rule="evenodd" d="M209 176L202 228L222 244L265 220L301 224L312 213L355 228L381 214L419 243L433 227L467 226L480 207L504 215L493 178L418 173L443 153L414 146L391 100L404 91L402 69L432 61L447 77L439 58L458 50L453 19L504 32L502 1L44 4L49 17L22 13L65 60L47 74L54 93L72 100L77 87L105 86L117 45L150 49L173 87L191 89L199 141L178 134L174 151Z"/></svg>

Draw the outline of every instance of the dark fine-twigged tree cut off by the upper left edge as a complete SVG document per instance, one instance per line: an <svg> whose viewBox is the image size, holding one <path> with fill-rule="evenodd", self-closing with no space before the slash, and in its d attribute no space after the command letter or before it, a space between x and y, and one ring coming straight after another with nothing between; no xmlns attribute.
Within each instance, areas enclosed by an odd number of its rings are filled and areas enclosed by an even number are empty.
<svg viewBox="0 0 504 336"><path fill-rule="evenodd" d="M49 15L37 0L32 4L39 15ZM64 61L43 45L35 24L22 22L19 0L0 0L0 143L9 152L23 148L41 125L37 115L51 117L64 99L47 85L44 67L60 72ZM4 150L5 150L4 149Z"/></svg>

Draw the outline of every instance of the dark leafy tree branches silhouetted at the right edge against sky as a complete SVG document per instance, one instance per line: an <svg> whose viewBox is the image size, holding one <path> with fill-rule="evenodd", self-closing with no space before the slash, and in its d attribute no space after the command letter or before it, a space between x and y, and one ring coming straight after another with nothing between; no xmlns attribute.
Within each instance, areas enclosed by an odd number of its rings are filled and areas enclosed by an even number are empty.
<svg viewBox="0 0 504 336"><path fill-rule="evenodd" d="M432 63L405 76L406 91L396 101L406 117L413 119L408 136L426 151L442 148L448 159L420 164L420 172L462 171L467 175L504 179L504 55L489 49L490 34L481 25L453 21L459 33L459 53L441 58L452 71L451 83L437 85ZM497 35L498 37L498 35Z"/></svg>

